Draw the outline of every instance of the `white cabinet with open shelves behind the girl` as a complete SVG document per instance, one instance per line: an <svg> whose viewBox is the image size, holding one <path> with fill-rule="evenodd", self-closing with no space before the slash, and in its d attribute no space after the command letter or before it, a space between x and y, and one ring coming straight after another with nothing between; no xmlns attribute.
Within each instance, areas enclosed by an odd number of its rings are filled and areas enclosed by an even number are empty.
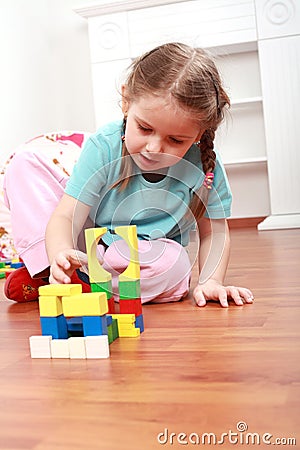
<svg viewBox="0 0 300 450"><path fill-rule="evenodd" d="M167 41L216 57L232 107L216 137L233 190L233 217L261 229L300 226L299 30L296 0L102 0L89 22L97 126L121 117L131 60Z"/></svg>

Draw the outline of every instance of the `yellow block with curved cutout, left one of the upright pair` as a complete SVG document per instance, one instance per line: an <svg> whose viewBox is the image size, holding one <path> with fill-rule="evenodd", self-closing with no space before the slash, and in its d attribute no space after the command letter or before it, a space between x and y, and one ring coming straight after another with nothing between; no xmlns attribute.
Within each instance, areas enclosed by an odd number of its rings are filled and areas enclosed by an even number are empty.
<svg viewBox="0 0 300 450"><path fill-rule="evenodd" d="M106 232L107 228L88 228L85 230L90 283L102 283L112 279L111 273L103 269L97 258L97 244Z"/></svg>

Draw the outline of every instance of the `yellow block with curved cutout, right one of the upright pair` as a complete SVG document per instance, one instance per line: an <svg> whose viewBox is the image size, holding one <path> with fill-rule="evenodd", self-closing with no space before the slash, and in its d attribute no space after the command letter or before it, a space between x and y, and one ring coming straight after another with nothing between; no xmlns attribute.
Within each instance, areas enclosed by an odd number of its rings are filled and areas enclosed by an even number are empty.
<svg viewBox="0 0 300 450"><path fill-rule="evenodd" d="M140 278L140 262L138 252L138 238L136 225L120 226L115 228L115 233L121 236L127 243L130 251L130 261L123 273L120 274L120 281L128 281Z"/></svg>

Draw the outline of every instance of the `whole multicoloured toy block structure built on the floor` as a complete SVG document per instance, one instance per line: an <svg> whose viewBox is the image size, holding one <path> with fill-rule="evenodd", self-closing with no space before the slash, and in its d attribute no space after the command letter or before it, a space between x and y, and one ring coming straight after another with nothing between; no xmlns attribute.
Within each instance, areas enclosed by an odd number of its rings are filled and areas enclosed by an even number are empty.
<svg viewBox="0 0 300 450"><path fill-rule="evenodd" d="M114 310L112 275L97 258L97 245L106 232L85 231L91 293L83 294L80 284L40 287L42 336L30 338L32 358L107 358L115 339L144 331L136 226L115 229L130 251L128 267L119 276L119 314Z"/></svg>

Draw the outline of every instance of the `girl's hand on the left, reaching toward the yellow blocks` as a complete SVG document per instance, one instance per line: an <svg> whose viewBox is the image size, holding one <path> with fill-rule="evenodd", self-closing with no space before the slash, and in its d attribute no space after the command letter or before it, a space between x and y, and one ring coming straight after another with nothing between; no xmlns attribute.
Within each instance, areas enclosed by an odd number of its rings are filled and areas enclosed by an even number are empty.
<svg viewBox="0 0 300 450"><path fill-rule="evenodd" d="M66 249L59 252L50 266L49 283L71 283L73 272L87 263L87 255L79 250Z"/></svg>

